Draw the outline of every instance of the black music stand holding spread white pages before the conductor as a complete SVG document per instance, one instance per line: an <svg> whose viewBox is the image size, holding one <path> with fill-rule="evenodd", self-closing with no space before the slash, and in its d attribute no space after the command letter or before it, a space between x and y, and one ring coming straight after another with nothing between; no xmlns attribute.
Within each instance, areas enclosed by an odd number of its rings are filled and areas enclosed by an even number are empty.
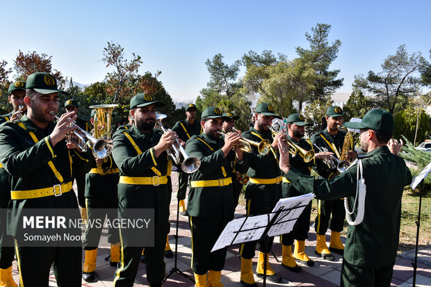
<svg viewBox="0 0 431 287"><path fill-rule="evenodd" d="M300 197L304 197L304 195ZM309 200L313 199L313 197L314 196L310 197ZM280 199L279 202L283 202L283 201L293 202L295 201L295 199L298 199L298 198L299 197L289 197L286 199ZM238 243L247 243L247 242L256 241L256 240L263 240L263 244L265 245L266 247L265 249L267 250L269 238L273 236L277 236L279 234L288 233L284 225L287 222L291 222L289 226L293 228L293 225L295 224L296 220L298 220L298 217L301 215L302 210L305 208L305 206L308 205L309 200L307 202L305 201L297 202L296 204L293 204L289 208L285 208L285 206L280 206L279 208L277 208L277 210L263 215L256 215L256 216L247 215L245 218L238 218L237 220L232 220L227 224L225 229L222 231L214 247L218 246L216 248L220 249L220 248L223 248L222 245L225 245L225 247L227 247ZM291 212L297 209L300 209L300 211L298 211L298 213L294 213L293 215L291 215ZM272 218L271 218L271 215L273 215ZM241 225L236 227L234 225L235 224L234 222L235 221L239 222L241 220L243 220ZM254 221L251 223L252 227L249 227L246 224L247 220L249 222ZM275 230L273 230L273 228L275 228ZM234 230L234 229L237 229L237 230ZM261 229L263 229L263 232L259 231ZM246 235L245 238L239 240L238 242L235 242L236 238L240 233L244 233ZM271 233L271 236L269 236L268 233ZM229 238L224 238L224 236L227 236ZM257 238L257 236L259 236L259 238ZM214 247L212 251L216 250L214 249ZM264 254L265 261L263 263L263 287L266 286L266 270L268 269L268 266L266 263L267 254L268 252L265 252Z"/></svg>

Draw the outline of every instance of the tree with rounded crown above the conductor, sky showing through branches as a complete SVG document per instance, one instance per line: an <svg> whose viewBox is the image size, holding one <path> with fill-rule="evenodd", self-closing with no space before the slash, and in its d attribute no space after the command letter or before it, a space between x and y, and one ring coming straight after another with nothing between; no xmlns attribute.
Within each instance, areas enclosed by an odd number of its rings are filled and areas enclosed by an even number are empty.
<svg viewBox="0 0 431 287"><path fill-rule="evenodd" d="M416 72L422 63L421 53L408 54L403 44L384 60L381 72L369 71L366 78L357 75L353 85L366 92L377 107L394 114L407 104L408 97L419 93L421 82Z"/></svg>

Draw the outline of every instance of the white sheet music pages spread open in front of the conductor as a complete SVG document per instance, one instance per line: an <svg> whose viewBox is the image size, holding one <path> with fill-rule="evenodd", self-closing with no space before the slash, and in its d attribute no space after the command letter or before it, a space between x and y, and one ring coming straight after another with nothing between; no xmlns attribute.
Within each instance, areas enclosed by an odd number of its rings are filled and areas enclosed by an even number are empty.
<svg viewBox="0 0 431 287"><path fill-rule="evenodd" d="M270 228L268 235L275 236L290 232L304 207L313 198L314 195L309 193L307 195L300 195L299 197L280 199L275 205L273 212L278 211L280 208L285 211L279 214L279 217L275 220L275 224ZM302 207L297 208L298 206ZM229 245L259 240L274 215L275 213L271 213L269 216L268 214L263 214L232 220L223 229L211 252Z"/></svg>

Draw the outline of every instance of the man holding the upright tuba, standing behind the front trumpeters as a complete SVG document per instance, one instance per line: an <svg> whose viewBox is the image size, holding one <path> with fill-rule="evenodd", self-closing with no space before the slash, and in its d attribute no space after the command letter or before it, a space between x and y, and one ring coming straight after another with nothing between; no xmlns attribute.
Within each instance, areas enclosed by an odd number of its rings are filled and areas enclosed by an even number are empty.
<svg viewBox="0 0 431 287"><path fill-rule="evenodd" d="M92 110L90 122L95 123L97 117ZM105 128L105 127L104 127ZM103 129L104 129L103 128ZM97 126L95 126L97 129ZM95 133L93 133L94 135ZM95 159L92 156L92 146L88 145L87 158L90 161L91 170L86 174L86 208L88 220L104 222L106 216L110 222L117 218L117 184L120 176L118 167L113 161L112 155L106 159ZM91 282L95 277L97 246L101 236L102 226L99 224L87 224L83 249L85 250L82 278ZM111 266L117 266L120 261L120 234L112 224L108 225L108 243L111 243Z"/></svg>

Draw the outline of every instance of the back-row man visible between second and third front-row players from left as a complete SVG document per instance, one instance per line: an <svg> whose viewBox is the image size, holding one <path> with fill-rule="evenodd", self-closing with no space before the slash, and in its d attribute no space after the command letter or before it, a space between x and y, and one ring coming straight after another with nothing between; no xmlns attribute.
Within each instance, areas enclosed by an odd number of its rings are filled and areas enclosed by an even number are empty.
<svg viewBox="0 0 431 287"><path fill-rule="evenodd" d="M202 133L200 122L196 120L196 112L197 108L195 104L189 104L186 109L186 120L178 121L172 128L172 131L177 133L179 138L184 142L187 142L192 136ZM189 175L181 171L181 169L178 170L177 199L179 200L179 214L181 215L187 215L184 199L186 198Z"/></svg>

